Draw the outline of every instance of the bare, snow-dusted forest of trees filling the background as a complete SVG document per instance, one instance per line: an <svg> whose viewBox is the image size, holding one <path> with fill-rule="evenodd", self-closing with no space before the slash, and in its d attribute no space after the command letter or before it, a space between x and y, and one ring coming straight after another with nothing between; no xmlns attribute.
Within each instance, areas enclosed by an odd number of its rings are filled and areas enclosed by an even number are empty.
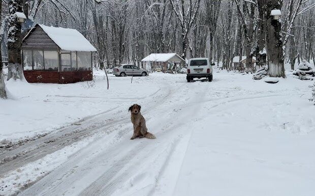
<svg viewBox="0 0 315 196"><path fill-rule="evenodd" d="M247 68L255 56L264 67L269 52L271 76L285 77L283 63L294 69L296 60L315 60L314 8L314 0L3 0L2 56L9 55L8 78L19 78L19 43L35 22L79 30L98 49L101 69L168 52L227 70L234 56L247 56ZM279 20L270 16L275 9ZM26 24L14 23L16 11Z"/></svg>

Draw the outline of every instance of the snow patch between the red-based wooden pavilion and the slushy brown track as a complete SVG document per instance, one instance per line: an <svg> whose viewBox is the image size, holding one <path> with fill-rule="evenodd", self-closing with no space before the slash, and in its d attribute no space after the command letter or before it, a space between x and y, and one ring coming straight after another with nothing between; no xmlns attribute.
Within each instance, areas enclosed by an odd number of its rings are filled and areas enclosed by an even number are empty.
<svg viewBox="0 0 315 196"><path fill-rule="evenodd" d="M82 118L104 112L122 112L138 100L145 100L160 90L159 86L110 78L110 88L103 72L96 73L96 82L76 84L29 84L25 81L7 82L13 99L0 101L0 132L2 139L17 140L51 132L76 123ZM112 76L112 75L111 75ZM145 92L145 93L143 93ZM10 123L9 123L10 122Z"/></svg>

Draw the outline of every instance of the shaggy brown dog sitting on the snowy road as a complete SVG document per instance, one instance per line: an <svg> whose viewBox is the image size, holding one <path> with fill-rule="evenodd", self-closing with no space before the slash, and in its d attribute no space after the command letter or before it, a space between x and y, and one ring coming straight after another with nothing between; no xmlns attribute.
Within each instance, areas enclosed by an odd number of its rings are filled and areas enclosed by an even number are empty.
<svg viewBox="0 0 315 196"><path fill-rule="evenodd" d="M155 139L155 136L148 132L148 129L145 125L145 119L141 115L141 106L134 104L130 106L128 111L131 111L131 122L134 125L134 135L131 140L139 137L139 138L148 138Z"/></svg>

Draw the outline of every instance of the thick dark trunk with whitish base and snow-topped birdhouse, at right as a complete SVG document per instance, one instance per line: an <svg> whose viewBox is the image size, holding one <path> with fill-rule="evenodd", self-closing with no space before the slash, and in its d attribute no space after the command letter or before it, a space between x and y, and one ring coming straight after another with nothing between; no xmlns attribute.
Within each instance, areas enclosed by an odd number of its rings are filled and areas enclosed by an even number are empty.
<svg viewBox="0 0 315 196"><path fill-rule="evenodd" d="M267 56L269 76L286 78L283 65L281 22L270 16L271 10L281 10L281 6L278 0L267 1Z"/></svg>

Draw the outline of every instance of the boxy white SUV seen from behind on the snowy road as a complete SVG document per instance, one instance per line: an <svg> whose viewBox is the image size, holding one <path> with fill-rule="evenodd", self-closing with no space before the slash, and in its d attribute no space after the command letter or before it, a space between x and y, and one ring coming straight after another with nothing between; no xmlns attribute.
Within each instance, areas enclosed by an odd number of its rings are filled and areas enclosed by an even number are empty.
<svg viewBox="0 0 315 196"><path fill-rule="evenodd" d="M194 78L207 78L209 82L212 81L212 66L209 58L191 58L188 61L187 67L187 82Z"/></svg>

